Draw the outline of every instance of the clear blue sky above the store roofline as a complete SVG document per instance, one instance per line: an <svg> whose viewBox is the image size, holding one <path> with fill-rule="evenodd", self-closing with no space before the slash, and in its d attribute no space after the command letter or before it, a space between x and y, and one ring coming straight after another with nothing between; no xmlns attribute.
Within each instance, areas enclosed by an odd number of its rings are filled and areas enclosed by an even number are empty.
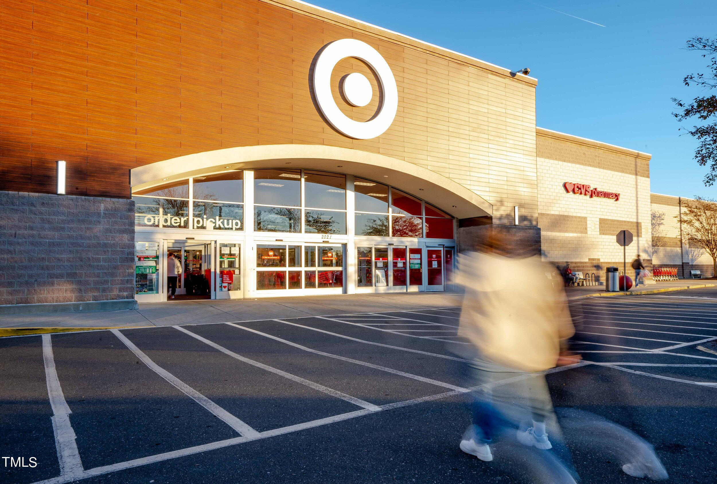
<svg viewBox="0 0 717 484"><path fill-rule="evenodd" d="M538 126L651 153L655 193L717 198L670 101L704 95L682 85L707 65L683 47L695 35L717 37L713 0L309 1L502 67L530 67Z"/></svg>

